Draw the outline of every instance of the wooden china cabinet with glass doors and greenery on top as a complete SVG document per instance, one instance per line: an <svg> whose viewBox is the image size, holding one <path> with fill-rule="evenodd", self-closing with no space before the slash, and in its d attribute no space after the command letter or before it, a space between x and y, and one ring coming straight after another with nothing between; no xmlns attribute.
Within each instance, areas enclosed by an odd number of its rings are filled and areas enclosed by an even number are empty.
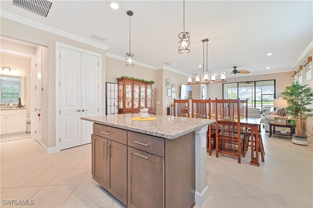
<svg viewBox="0 0 313 208"><path fill-rule="evenodd" d="M117 78L118 113L139 113L140 108L152 109L152 84L141 83L125 78Z"/></svg>

